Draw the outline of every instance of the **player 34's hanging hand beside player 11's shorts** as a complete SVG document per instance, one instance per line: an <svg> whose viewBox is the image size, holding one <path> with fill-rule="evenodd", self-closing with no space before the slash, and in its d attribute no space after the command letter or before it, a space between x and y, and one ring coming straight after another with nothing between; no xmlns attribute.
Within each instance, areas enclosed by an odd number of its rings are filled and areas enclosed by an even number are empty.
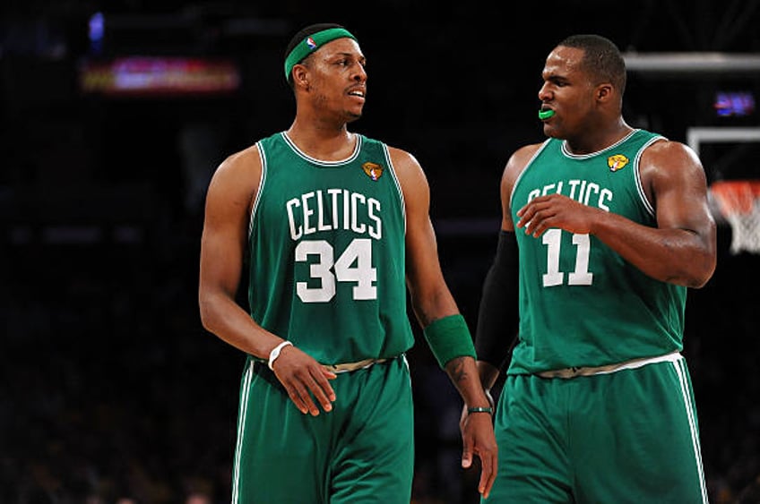
<svg viewBox="0 0 760 504"><path fill-rule="evenodd" d="M493 397L488 392L486 395L493 407ZM468 414L465 405L459 426L462 431L462 467L467 469L472 465L473 453L480 458L478 491L483 498L488 498L497 477L498 448L492 417L488 413Z"/></svg>

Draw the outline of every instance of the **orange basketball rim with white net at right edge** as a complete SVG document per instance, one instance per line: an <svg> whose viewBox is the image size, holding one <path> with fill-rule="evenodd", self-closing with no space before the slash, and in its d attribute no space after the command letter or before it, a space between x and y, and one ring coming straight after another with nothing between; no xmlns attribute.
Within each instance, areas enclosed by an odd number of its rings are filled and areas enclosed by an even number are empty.
<svg viewBox="0 0 760 504"><path fill-rule="evenodd" d="M731 226L730 252L760 254L760 179L718 181L710 186L710 195Z"/></svg>

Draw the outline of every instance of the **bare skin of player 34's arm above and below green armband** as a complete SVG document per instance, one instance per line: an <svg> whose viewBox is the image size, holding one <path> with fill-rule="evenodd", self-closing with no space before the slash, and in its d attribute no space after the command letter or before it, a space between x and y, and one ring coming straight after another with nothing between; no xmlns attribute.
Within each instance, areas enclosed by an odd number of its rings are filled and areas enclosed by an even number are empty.
<svg viewBox="0 0 760 504"><path fill-rule="evenodd" d="M406 210L406 275L411 304L419 324L459 314L453 295L446 286L438 261L436 234L430 222L430 192L419 163L409 153L390 149L391 159L402 185ZM468 335L469 337L469 335ZM465 406L489 406L480 383L475 359L454 357L445 363ZM493 485L497 469L497 445L489 414L471 414L462 422L462 466L471 466L472 454L479 456L481 473L479 491L485 496Z"/></svg>

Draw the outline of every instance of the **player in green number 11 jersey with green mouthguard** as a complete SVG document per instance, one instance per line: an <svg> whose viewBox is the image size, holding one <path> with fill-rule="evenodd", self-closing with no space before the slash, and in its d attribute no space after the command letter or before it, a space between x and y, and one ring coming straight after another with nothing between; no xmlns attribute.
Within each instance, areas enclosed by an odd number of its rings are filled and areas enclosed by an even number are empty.
<svg viewBox="0 0 760 504"><path fill-rule="evenodd" d="M687 288L716 262L704 169L626 124L626 65L609 39L566 38L542 76L548 139L506 164L479 310L488 390L506 367L484 500L706 502L680 354Z"/></svg>

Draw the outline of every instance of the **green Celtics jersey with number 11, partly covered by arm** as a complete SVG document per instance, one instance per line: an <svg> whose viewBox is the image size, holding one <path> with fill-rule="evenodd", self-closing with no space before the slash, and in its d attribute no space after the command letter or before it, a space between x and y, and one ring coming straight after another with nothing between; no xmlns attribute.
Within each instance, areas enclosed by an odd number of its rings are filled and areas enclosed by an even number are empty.
<svg viewBox="0 0 760 504"><path fill-rule="evenodd" d="M510 211L548 193L656 226L639 161L662 137L636 130L608 149L574 155L548 139L514 184ZM515 230L520 329L509 373L601 366L682 349L687 289L655 280L593 235Z"/></svg>

